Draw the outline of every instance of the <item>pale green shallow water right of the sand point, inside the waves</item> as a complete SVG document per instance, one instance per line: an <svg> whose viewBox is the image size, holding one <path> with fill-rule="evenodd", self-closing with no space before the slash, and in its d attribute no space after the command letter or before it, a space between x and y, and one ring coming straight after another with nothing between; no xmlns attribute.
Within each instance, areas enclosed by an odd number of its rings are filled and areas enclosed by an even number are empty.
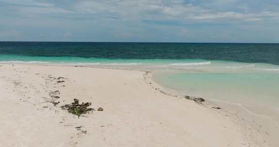
<svg viewBox="0 0 279 147"><path fill-rule="evenodd" d="M155 72L154 79L179 93L201 96L219 104L236 105L237 109L278 124L278 65L214 60L206 62L210 63L168 65Z"/></svg>

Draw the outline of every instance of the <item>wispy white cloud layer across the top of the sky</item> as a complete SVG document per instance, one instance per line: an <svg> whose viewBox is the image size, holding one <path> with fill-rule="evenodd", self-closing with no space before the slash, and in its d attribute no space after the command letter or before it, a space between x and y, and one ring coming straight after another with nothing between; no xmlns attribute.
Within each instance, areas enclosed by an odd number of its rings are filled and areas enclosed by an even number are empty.
<svg viewBox="0 0 279 147"><path fill-rule="evenodd" d="M236 6L240 0L201 0L199 4L186 3L185 0L79 0L69 2L66 6L39 2L37 0L0 0L0 2L16 4L9 6L17 15L27 17L64 17L80 20L121 20L121 21L178 21L187 23L222 23L261 21L266 18L279 18L279 12L250 12L247 5L245 11L218 9L220 5ZM53 2L53 1L52 1ZM206 7L210 3L213 7ZM214 7L216 6L216 7Z"/></svg>

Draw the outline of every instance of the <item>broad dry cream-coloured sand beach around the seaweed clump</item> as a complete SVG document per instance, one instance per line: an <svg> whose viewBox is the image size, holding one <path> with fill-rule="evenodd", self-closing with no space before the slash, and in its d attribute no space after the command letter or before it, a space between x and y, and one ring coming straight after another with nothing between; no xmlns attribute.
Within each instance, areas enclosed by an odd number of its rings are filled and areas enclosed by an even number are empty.
<svg viewBox="0 0 279 147"><path fill-rule="evenodd" d="M245 127L242 118L206 103L164 94L150 75L131 70L2 64L0 146L269 147L262 132ZM65 82L57 83L59 77ZM59 99L49 96L56 90ZM78 118L60 108L75 98L104 111ZM47 101L60 103L54 106Z"/></svg>

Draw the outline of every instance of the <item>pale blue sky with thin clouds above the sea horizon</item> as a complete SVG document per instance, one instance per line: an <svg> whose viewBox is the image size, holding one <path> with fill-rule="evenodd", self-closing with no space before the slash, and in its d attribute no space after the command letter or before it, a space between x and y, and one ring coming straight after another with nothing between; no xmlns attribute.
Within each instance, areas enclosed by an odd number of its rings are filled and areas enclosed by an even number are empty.
<svg viewBox="0 0 279 147"><path fill-rule="evenodd" d="M279 43L279 0L0 0L0 41Z"/></svg>

